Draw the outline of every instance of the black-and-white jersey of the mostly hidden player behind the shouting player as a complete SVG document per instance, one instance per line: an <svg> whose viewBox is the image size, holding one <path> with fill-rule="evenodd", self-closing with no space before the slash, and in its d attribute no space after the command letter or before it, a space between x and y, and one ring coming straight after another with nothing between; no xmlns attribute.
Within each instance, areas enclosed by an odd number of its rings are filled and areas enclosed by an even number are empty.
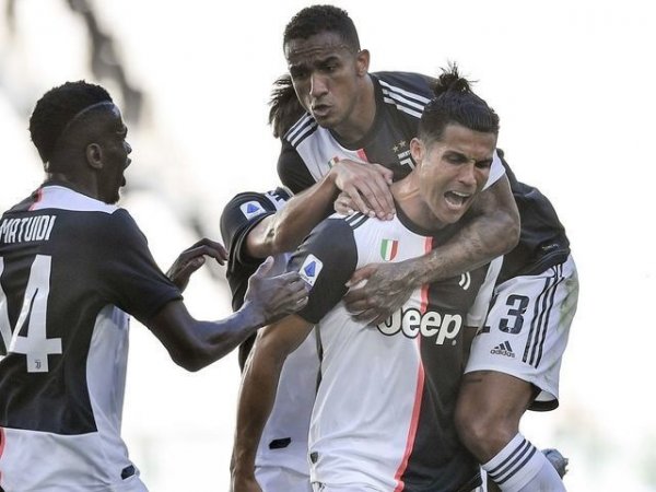
<svg viewBox="0 0 656 492"><path fill-rule="evenodd" d="M226 277L233 293L234 309L238 309L244 303L248 278L262 261L247 254L244 247L246 237L253 227L284 207L290 198L291 195L283 188L267 194L245 192L234 197L223 210L221 234L229 248ZM281 262L285 265L285 261ZM248 349L251 343L253 341L247 345ZM276 403L257 450L256 469L282 467L308 476L307 433L318 365L316 340L311 333L283 365ZM307 483L309 484L309 478Z"/></svg>

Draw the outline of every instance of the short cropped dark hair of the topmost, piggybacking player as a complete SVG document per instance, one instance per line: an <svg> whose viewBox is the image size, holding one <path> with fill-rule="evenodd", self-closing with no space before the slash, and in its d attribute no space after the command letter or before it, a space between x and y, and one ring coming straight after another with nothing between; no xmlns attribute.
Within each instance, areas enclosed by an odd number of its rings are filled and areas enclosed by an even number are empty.
<svg viewBox="0 0 656 492"><path fill-rule="evenodd" d="M315 34L337 33L354 51L360 51L355 24L345 10L335 5L312 5L301 10L284 28L282 45L291 39L307 39Z"/></svg>

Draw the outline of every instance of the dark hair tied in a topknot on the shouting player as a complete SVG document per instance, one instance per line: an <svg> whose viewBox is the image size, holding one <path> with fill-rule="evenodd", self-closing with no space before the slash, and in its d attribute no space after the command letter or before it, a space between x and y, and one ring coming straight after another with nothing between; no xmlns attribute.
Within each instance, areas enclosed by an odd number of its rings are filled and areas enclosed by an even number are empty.
<svg viewBox="0 0 656 492"><path fill-rule="evenodd" d="M449 124L499 134L499 115L471 91L470 85L471 82L458 73L456 63L442 70L433 87L435 97L426 104L421 116L418 131L421 140L440 140Z"/></svg>

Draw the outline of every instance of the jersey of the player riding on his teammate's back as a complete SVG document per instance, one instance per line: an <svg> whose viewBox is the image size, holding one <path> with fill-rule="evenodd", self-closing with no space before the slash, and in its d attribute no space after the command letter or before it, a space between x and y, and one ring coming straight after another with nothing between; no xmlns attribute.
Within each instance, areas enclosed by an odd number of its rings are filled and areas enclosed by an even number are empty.
<svg viewBox="0 0 656 492"><path fill-rule="evenodd" d="M317 125L305 114L282 138L278 174L294 192L308 188L328 173L340 159L382 164L394 171L394 180L408 175L414 162L410 140L417 136L425 104L434 96L431 81L418 73L372 73L376 95L376 117L371 130L351 145ZM519 244L506 255L500 282L518 274L532 274L563 262L570 254L564 227L553 207L540 191L515 178L503 152L497 150L485 187L504 173L522 220Z"/></svg>

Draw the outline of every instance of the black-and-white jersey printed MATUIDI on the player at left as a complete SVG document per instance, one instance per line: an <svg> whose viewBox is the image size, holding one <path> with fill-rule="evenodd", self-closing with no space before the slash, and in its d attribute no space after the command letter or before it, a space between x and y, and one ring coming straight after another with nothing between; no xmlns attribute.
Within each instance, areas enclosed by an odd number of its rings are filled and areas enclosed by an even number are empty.
<svg viewBox="0 0 656 492"><path fill-rule="evenodd" d="M127 313L178 298L122 209L46 184L2 215L2 488L124 490Z"/></svg>

